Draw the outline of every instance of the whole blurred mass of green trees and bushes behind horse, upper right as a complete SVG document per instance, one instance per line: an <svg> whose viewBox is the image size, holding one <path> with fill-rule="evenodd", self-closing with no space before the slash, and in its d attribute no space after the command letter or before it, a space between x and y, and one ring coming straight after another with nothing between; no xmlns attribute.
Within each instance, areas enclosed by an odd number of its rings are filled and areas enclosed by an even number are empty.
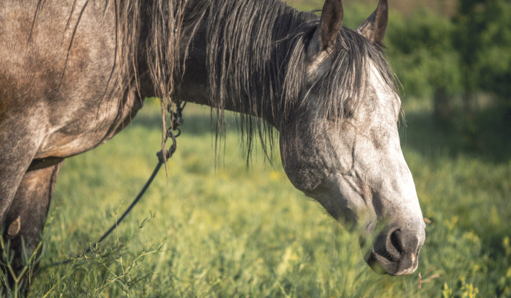
<svg viewBox="0 0 511 298"><path fill-rule="evenodd" d="M424 8L394 15L388 28L391 62L408 95L484 92L511 103L510 0L459 0L452 17Z"/></svg>

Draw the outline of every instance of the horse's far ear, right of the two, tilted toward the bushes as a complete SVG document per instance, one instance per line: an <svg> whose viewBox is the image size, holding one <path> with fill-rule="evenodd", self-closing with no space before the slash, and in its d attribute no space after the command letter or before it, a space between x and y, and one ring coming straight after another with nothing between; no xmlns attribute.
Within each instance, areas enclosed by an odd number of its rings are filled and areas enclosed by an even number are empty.
<svg viewBox="0 0 511 298"><path fill-rule="evenodd" d="M357 32L369 41L381 44L387 30L387 22L388 3L387 0L380 0L375 12L357 28Z"/></svg>

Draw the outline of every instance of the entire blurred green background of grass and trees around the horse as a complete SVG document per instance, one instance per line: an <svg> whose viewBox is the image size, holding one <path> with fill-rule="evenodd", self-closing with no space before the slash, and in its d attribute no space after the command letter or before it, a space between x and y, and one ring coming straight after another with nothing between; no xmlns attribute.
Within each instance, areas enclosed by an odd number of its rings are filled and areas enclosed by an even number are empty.
<svg viewBox="0 0 511 298"><path fill-rule="evenodd" d="M356 29L377 0L343 5L344 26ZM389 8L401 144L427 222L414 274L371 271L357 235L293 188L278 149L269 160L255 150L247 168L232 114L215 154L210 109L189 104L167 175L97 254L39 273L32 295L511 297L511 1ZM147 99L125 131L66 159L43 265L102 234L151 173L160 140L159 103Z"/></svg>

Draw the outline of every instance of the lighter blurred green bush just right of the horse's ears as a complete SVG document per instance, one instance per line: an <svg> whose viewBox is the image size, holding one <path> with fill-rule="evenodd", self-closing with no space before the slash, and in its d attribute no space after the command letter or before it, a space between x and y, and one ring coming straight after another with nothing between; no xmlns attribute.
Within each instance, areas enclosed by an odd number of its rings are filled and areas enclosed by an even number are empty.
<svg viewBox="0 0 511 298"><path fill-rule="evenodd" d="M438 88L449 94L463 90L459 53L450 38L453 32L449 19L427 9L406 18L390 16L388 54L407 95L431 96Z"/></svg>

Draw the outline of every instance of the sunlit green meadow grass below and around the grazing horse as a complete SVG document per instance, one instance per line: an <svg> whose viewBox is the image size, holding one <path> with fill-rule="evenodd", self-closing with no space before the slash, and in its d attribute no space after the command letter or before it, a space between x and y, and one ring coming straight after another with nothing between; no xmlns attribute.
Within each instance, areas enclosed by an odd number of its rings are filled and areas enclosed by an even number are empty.
<svg viewBox="0 0 511 298"><path fill-rule="evenodd" d="M66 159L42 266L85 249L127 207L157 161L158 114L149 101L107 144ZM209 114L187 106L168 177L159 173L98 253L38 273L32 296L511 295L509 152L469 150L410 105L404 154L431 223L419 269L380 276L357 236L292 187L280 159L272 166L258 151L247 169L233 123L216 160Z"/></svg>

